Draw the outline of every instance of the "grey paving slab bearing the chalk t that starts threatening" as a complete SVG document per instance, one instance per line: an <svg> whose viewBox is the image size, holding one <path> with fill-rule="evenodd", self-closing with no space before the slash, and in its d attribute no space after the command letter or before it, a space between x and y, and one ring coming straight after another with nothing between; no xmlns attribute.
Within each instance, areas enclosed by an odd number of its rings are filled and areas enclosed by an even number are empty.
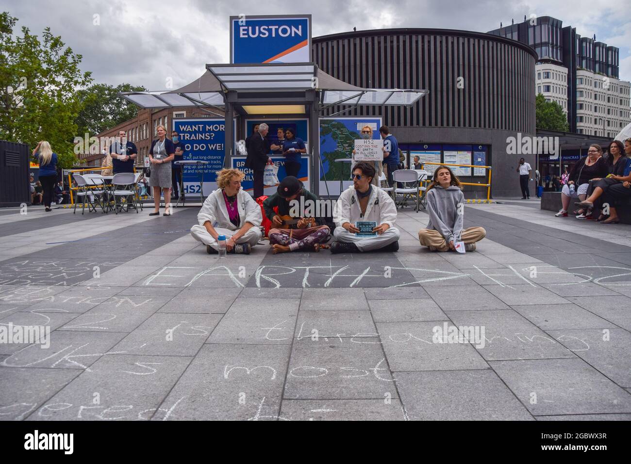
<svg viewBox="0 0 631 464"><path fill-rule="evenodd" d="M298 314L297 299L261 305L251 298L237 298L208 338L208 343L292 343Z"/></svg>

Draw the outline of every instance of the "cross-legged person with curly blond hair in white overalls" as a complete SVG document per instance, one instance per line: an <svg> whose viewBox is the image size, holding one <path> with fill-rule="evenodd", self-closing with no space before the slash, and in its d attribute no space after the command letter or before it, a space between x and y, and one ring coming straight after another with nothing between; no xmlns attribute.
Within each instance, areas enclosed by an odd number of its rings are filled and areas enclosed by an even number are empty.
<svg viewBox="0 0 631 464"><path fill-rule="evenodd" d="M261 206L241 188L244 177L238 169L221 169L217 173L219 188L204 201L199 224L191 227L191 235L206 245L208 254L218 253L219 235L225 235L228 253L249 254L261 239Z"/></svg>

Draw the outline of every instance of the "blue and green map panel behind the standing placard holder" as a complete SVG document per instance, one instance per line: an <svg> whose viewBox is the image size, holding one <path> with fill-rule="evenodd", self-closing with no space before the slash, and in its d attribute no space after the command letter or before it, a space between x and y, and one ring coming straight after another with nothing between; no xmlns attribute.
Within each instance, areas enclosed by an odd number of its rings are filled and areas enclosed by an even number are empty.
<svg viewBox="0 0 631 464"><path fill-rule="evenodd" d="M336 162L336 159L353 155L355 140L362 138L363 126L372 128L372 138L380 140L379 130L382 125L380 117L334 117L320 119L320 157L322 167L319 175L319 193L338 196L340 181L342 189L353 184L351 181L351 164ZM319 163L315 162L315 166ZM326 181L326 183L325 183Z"/></svg>

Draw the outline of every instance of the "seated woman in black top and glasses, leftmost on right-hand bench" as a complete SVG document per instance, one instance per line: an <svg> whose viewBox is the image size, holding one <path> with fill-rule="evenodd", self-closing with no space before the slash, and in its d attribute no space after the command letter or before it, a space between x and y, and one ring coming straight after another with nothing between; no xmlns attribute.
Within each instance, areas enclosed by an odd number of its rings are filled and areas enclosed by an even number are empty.
<svg viewBox="0 0 631 464"><path fill-rule="evenodd" d="M561 201L563 208L561 208L556 217L567 217L567 209L570 206L570 198L572 192L570 186L575 186L575 194L579 196L579 199L583 201L587 196L587 187L589 187L589 181L596 177L606 177L609 174L607 163L603 159L603 149L600 145L593 143L589 145L587 150L587 157L581 158L573 167L568 177L567 184L563 186L561 190ZM584 211L577 211L580 214Z"/></svg>

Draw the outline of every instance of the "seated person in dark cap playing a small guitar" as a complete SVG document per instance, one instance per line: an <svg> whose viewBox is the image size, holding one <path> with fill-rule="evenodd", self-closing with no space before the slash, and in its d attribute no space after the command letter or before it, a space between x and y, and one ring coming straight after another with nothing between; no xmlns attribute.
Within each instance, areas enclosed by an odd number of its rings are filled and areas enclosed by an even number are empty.
<svg viewBox="0 0 631 464"><path fill-rule="evenodd" d="M274 248L274 254L302 249L320 251L320 248L328 248L321 245L331 238L331 229L324 224L324 218L303 217L302 214L307 214L304 211L299 211L299 215L292 215L294 210L298 210L298 207L294 208L294 201L297 205L306 205L307 213L310 212L309 205L313 205L312 214L315 214L317 196L305 189L302 182L292 175L285 177L278 185L276 193L263 201L265 215L272 222L272 229L269 229L269 244ZM274 212L274 206L278 208L278 213ZM286 225L289 229L280 229L284 225L284 220L290 221Z"/></svg>

